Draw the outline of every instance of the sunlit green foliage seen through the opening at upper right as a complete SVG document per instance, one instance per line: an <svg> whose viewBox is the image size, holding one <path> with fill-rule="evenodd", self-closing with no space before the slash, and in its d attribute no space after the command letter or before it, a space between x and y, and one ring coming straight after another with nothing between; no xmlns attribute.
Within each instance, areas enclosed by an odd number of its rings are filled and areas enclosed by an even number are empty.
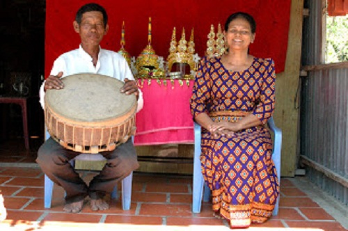
<svg viewBox="0 0 348 231"><path fill-rule="evenodd" d="M348 15L326 16L325 63L348 61Z"/></svg>

